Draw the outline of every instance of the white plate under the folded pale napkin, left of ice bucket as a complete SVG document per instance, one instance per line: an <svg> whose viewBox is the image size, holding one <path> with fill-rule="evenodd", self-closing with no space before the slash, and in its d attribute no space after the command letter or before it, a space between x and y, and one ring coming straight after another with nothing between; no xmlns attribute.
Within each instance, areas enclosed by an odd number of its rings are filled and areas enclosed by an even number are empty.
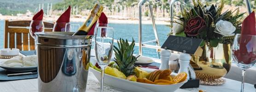
<svg viewBox="0 0 256 92"><path fill-rule="evenodd" d="M26 71L32 71L36 70L37 66L27 66L27 67L9 67L9 66L1 66L1 68L6 69L8 71L14 71L14 72L26 72Z"/></svg>

